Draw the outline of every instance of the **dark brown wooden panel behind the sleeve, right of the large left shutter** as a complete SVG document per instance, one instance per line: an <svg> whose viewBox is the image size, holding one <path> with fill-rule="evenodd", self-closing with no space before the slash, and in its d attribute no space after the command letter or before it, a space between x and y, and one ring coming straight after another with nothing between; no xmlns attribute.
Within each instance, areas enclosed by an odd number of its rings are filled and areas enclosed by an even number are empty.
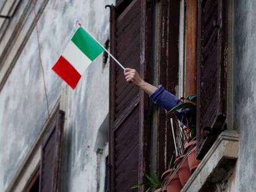
<svg viewBox="0 0 256 192"><path fill-rule="evenodd" d="M155 44L155 48L159 52L159 55L156 56L159 58L159 62L158 64L155 62L159 69L156 78L160 85L173 94L176 94L179 81L179 9L180 1L160 1L160 20L157 29L159 30L159 40L158 44ZM175 150L170 117L171 115L166 114L165 109L159 107L158 123L153 125L157 128L156 171L160 177L168 169Z"/></svg>

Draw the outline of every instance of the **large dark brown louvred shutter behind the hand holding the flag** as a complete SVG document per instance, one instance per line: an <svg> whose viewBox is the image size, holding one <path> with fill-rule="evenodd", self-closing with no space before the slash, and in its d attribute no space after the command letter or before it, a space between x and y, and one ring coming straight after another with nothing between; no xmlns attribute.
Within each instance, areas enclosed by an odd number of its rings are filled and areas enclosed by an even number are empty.
<svg viewBox="0 0 256 192"><path fill-rule="evenodd" d="M149 47L145 42L150 34L145 35L147 29L142 31L147 23L142 24L145 19L142 15L146 14L142 10L144 3L134 0L118 15L119 8L111 6L110 50L125 67L134 68L147 78L149 56L145 52ZM113 60L110 67L109 190L137 191L129 188L143 181L146 169L144 115L147 115L148 97L126 83L123 70Z"/></svg>

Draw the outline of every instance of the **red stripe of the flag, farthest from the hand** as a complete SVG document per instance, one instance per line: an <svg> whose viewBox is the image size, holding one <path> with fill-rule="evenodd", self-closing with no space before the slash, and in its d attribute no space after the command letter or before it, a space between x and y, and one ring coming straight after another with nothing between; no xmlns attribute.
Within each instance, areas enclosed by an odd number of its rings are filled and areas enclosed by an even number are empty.
<svg viewBox="0 0 256 192"><path fill-rule="evenodd" d="M59 60L52 69L62 78L62 80L66 81L73 90L75 89L81 75L64 57L59 57Z"/></svg>

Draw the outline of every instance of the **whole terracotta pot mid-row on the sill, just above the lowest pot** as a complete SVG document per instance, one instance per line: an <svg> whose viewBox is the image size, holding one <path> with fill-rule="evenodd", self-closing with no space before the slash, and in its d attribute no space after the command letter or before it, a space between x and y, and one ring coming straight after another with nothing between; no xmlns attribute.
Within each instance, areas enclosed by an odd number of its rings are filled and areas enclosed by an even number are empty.
<svg viewBox="0 0 256 192"><path fill-rule="evenodd" d="M184 156L183 156L184 157ZM178 164L178 171L177 174L179 175L179 181L181 182L181 185L184 186L189 180L189 177L191 176L191 172L189 169L189 161L186 159L182 159L181 165Z"/></svg>

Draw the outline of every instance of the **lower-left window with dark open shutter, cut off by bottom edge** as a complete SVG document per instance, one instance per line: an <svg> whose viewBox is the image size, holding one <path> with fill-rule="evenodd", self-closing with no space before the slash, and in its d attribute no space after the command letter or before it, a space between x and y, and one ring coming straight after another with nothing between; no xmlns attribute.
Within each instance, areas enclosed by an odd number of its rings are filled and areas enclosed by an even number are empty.
<svg viewBox="0 0 256 192"><path fill-rule="evenodd" d="M56 113L48 132L41 143L41 158L35 173L30 178L25 192L54 192L59 190L59 167L64 112ZM39 148L38 154L39 153ZM39 156L38 156L39 157Z"/></svg>

